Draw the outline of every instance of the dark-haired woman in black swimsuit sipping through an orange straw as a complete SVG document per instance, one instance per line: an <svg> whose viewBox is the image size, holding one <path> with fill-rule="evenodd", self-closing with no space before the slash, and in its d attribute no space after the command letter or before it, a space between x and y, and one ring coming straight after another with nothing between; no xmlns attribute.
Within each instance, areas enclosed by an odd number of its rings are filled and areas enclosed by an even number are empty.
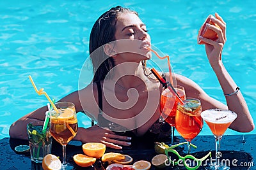
<svg viewBox="0 0 256 170"><path fill-rule="evenodd" d="M186 89L187 97L200 99L202 110L223 108L237 113L230 125L239 132L249 132L254 124L241 92L234 93L236 83L221 61L221 51L226 41L226 24L216 13L214 25L207 25L218 34L212 41L200 37L206 43L209 63L226 96L227 106L209 97L194 81L175 74L178 85ZM95 22L90 35L90 57L95 76L92 83L73 92L60 101L70 101L76 111L87 113L98 125L88 129L79 127L74 139L87 142L102 142L111 148L120 149L131 145L131 137L168 136L168 127L158 122L159 97L163 86L145 66L150 59L150 36L138 13L121 6L106 11ZM169 75L166 74L169 79ZM47 107L40 108L20 118L10 127L11 138L27 139L26 124L44 120ZM166 124L165 124L166 125ZM107 127L107 128L101 128ZM162 129L159 132L159 128ZM164 129L164 130L163 130Z"/></svg>

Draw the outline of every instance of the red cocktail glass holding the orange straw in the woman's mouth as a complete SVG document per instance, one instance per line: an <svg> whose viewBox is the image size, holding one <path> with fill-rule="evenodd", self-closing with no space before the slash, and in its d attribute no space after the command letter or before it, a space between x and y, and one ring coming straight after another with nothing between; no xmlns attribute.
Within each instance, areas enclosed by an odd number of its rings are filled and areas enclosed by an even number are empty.
<svg viewBox="0 0 256 170"><path fill-rule="evenodd" d="M184 87L182 87L180 85L176 85L176 86L174 86L174 89L176 90L180 99L182 99L182 101L184 101L184 99L186 98ZM163 92L161 94L161 100L160 100L161 117L160 117L159 121L163 122L163 120L165 120L168 124L171 125L171 127L172 127L172 143L173 143L173 138L174 138L175 116L176 116L176 110L177 110L178 103L179 103L179 100L172 92L170 92L169 89L163 90Z"/></svg>

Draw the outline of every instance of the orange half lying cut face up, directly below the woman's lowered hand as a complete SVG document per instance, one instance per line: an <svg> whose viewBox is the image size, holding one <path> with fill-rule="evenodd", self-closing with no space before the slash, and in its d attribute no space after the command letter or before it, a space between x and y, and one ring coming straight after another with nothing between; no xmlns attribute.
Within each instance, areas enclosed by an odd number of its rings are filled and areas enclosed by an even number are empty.
<svg viewBox="0 0 256 170"><path fill-rule="evenodd" d="M102 157L106 151L106 145L103 143L84 143L82 147L85 155L95 157L97 159Z"/></svg>

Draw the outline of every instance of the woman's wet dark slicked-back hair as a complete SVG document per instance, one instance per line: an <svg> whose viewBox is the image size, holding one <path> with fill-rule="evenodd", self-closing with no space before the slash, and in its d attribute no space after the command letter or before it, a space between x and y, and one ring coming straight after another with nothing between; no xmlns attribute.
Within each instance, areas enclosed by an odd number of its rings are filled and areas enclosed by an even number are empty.
<svg viewBox="0 0 256 170"><path fill-rule="evenodd" d="M113 57L109 57L104 53L103 45L115 41L115 26L118 16L122 13L130 12L138 15L136 11L129 10L129 8L116 6L103 13L93 25L89 45L94 73L93 82L104 80L106 74L115 66ZM97 49L99 52L92 55Z"/></svg>

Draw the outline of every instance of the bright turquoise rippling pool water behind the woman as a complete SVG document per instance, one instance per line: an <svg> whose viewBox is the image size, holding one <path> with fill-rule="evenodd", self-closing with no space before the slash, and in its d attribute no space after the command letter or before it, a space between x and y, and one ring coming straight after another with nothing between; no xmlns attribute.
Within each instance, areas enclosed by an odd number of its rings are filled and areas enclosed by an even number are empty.
<svg viewBox="0 0 256 170"><path fill-rule="evenodd" d="M92 25L116 5L138 11L152 44L170 55L175 73L188 76L225 103L204 46L196 44L198 29L217 11L227 22L223 62L256 120L256 1L9 0L0 1L0 139L8 137L12 122L47 103L35 93L29 74L51 98L60 99L78 89ZM154 60L167 71L166 61ZM90 126L89 118L82 113L78 117L79 126ZM200 134L211 134L207 125ZM241 133L228 130L226 134Z"/></svg>

